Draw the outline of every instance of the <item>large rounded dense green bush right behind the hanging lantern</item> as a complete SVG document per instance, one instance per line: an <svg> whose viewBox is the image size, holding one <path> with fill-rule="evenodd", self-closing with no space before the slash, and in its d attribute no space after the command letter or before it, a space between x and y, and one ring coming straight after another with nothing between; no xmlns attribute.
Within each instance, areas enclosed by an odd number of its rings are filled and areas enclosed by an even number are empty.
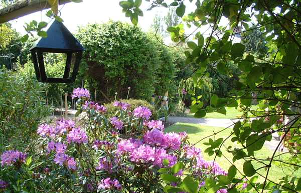
<svg viewBox="0 0 301 193"><path fill-rule="evenodd" d="M115 92L125 98L130 86L130 97L150 99L162 78L157 71L173 74L161 68L160 50L138 26L119 21L89 24L79 28L77 37L86 48L81 70L87 70L90 90L96 87L110 98Z"/></svg>

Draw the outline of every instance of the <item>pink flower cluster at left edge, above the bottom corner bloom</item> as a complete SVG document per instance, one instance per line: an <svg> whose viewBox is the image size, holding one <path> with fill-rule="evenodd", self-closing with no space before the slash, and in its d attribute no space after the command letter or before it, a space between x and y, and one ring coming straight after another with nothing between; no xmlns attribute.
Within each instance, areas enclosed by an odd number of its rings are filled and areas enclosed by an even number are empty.
<svg viewBox="0 0 301 193"><path fill-rule="evenodd" d="M1 155L1 165L12 165L16 162L25 162L27 154L18 150L4 151Z"/></svg>

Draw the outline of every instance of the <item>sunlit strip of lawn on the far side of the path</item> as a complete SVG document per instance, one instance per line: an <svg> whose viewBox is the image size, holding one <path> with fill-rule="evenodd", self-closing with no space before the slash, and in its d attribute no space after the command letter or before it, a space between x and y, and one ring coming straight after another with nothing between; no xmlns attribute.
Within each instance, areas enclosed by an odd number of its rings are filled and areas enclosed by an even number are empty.
<svg viewBox="0 0 301 193"><path fill-rule="evenodd" d="M252 110L257 109L257 105L253 105L251 107ZM227 113L222 114L218 112L209 112L206 113L206 116L203 118L237 118L243 114L242 111L240 111L240 108L237 107L226 107ZM188 117L194 117L194 113L187 113Z"/></svg>

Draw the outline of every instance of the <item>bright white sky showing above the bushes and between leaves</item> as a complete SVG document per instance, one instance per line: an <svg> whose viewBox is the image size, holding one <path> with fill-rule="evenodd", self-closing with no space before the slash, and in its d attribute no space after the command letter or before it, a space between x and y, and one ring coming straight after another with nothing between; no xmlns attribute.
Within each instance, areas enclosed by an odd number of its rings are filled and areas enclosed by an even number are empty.
<svg viewBox="0 0 301 193"><path fill-rule="evenodd" d="M122 8L119 6L119 1L120 0L83 0L83 2L81 3L67 3L65 5L60 6L59 9L61 10L61 17L64 19L64 25L71 32L76 32L78 26L95 22L102 23L108 21L109 19L120 20L130 23L130 18L125 17L125 14L122 12ZM172 1L173 0L170 0L170 2ZM140 6L144 16L139 16L138 25L140 25L143 31L147 31L150 28L150 25L153 23L156 14L164 16L168 12L168 8L165 7L155 7L152 10L146 10L149 7L149 4L150 2L146 2L145 0L143 0ZM193 0L193 2L186 0L185 5L185 14L190 13L196 8L195 0ZM32 20L36 20L38 22L50 20L50 18L45 15L46 11L47 10L38 11L20 17L11 21L11 23L18 32L20 32L21 34L26 34L26 31L23 27L25 22L29 23ZM226 23L227 19L222 19L221 24ZM189 29L186 27L185 33L188 34L194 29L194 26L192 26ZM200 28L200 31L204 32L206 29L208 29L208 27L202 26ZM208 36L209 32L210 30L206 31L204 36ZM170 41L170 39L165 40Z"/></svg>

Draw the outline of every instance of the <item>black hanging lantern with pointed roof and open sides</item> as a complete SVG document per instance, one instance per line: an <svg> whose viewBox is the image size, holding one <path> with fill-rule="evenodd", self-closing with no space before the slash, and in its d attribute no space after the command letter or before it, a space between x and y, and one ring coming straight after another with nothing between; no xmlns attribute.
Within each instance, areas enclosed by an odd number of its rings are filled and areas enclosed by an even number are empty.
<svg viewBox="0 0 301 193"><path fill-rule="evenodd" d="M38 39L36 44L30 49L37 79L41 82L73 82L78 72L82 53L85 50L84 47L65 25L57 20L54 20L47 29L47 35L47 37ZM47 77L43 57L43 53L45 52L66 54L67 60L62 78ZM70 73L71 68L73 68L73 71Z"/></svg>

